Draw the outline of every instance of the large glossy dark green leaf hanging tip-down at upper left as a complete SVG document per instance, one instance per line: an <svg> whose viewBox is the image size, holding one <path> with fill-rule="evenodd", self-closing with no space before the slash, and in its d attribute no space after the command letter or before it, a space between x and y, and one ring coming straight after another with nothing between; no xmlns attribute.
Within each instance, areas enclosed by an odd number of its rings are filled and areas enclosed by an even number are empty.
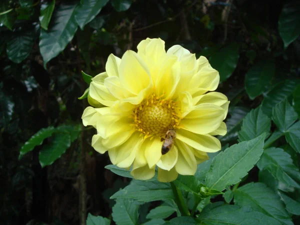
<svg viewBox="0 0 300 225"><path fill-rule="evenodd" d="M39 49L43 58L44 66L46 63L57 56L73 39L77 30L75 20L75 7L73 4L59 4L52 16L53 26L47 31L42 29L39 36Z"/></svg>

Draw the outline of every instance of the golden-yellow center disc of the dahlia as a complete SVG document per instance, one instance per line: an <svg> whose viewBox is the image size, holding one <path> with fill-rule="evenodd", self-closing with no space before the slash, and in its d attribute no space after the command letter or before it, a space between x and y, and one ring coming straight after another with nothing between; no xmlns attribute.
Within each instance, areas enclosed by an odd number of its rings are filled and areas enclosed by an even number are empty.
<svg viewBox="0 0 300 225"><path fill-rule="evenodd" d="M163 96L163 95L162 95ZM164 137L169 128L176 128L180 122L180 110L176 102L151 94L133 110L136 130L148 136Z"/></svg>

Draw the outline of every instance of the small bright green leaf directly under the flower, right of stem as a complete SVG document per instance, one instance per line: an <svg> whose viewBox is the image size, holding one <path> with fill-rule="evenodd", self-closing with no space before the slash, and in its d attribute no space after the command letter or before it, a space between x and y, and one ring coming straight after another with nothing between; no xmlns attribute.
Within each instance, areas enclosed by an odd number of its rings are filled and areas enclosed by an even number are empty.
<svg viewBox="0 0 300 225"><path fill-rule="evenodd" d="M198 193L198 180L195 176L178 175L177 179L173 183L180 189L192 193Z"/></svg>

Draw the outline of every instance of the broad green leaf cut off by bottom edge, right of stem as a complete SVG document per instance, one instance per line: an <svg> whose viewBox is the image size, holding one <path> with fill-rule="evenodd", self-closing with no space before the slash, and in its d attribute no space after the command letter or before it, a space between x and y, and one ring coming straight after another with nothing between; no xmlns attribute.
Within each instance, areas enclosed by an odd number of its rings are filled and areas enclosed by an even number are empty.
<svg viewBox="0 0 300 225"><path fill-rule="evenodd" d="M218 202L216 202L218 203ZM214 203L215 204L215 203ZM205 225L242 224L242 225L279 225L280 222L260 213L241 208L237 205L221 205L210 209L205 207L198 220Z"/></svg>

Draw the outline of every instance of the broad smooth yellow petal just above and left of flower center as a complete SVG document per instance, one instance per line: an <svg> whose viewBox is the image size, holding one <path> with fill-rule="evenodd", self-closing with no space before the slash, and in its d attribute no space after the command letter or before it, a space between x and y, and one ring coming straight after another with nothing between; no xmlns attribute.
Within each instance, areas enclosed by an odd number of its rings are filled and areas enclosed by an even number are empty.
<svg viewBox="0 0 300 225"><path fill-rule="evenodd" d="M119 77L122 85L135 95L138 95L142 89L152 86L147 65L131 50L126 51L122 57L119 66Z"/></svg>

